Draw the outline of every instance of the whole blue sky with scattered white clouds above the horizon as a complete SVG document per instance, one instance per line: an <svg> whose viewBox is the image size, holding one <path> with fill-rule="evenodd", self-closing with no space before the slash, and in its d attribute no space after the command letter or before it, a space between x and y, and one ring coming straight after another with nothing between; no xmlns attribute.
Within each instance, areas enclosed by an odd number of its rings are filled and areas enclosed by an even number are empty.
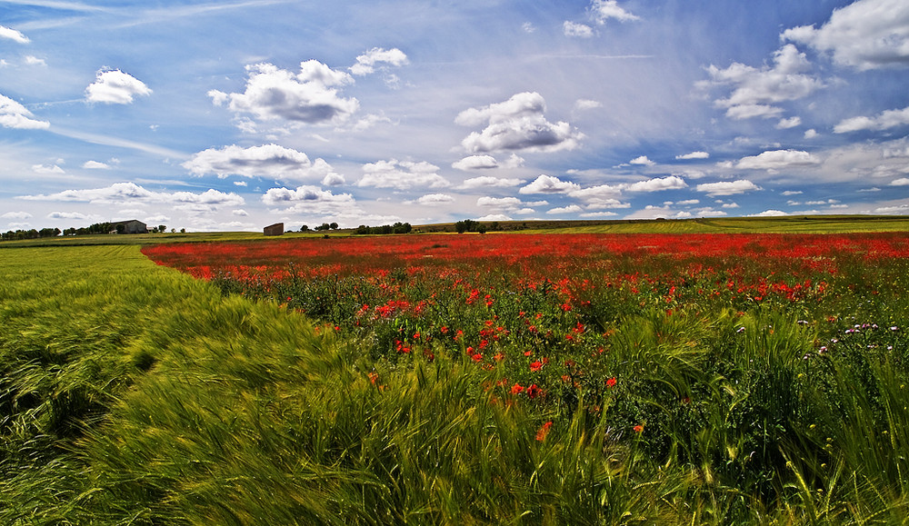
<svg viewBox="0 0 909 526"><path fill-rule="evenodd" d="M0 0L0 231L909 213L905 0Z"/></svg>

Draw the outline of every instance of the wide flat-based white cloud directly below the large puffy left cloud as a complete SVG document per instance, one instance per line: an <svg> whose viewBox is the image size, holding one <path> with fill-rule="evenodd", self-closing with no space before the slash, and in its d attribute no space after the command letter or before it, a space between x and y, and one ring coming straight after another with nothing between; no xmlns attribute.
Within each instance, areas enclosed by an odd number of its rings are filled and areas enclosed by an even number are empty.
<svg viewBox="0 0 909 526"><path fill-rule="evenodd" d="M344 183L344 176L335 173L331 164L318 158L310 161L303 152L277 144L263 144L243 148L237 145L199 152L182 166L190 174L202 176L215 174L224 179L228 175L243 177L269 177L280 181L315 181L325 184Z"/></svg>

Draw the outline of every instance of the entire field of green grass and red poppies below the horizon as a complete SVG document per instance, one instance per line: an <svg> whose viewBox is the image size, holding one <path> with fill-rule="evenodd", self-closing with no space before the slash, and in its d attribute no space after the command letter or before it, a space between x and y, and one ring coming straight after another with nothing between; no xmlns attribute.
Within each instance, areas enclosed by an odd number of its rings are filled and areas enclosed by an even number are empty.
<svg viewBox="0 0 909 526"><path fill-rule="evenodd" d="M0 521L902 523L909 233L662 223L2 249Z"/></svg>

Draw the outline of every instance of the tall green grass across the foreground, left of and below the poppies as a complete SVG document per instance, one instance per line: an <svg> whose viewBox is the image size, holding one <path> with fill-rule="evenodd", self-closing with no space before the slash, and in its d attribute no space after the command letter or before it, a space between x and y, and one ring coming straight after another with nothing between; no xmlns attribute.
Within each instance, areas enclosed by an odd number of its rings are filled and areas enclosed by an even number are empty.
<svg viewBox="0 0 909 526"><path fill-rule="evenodd" d="M909 273L876 264L810 309L609 311L614 386L530 398L135 246L0 250L0 522L901 523Z"/></svg>

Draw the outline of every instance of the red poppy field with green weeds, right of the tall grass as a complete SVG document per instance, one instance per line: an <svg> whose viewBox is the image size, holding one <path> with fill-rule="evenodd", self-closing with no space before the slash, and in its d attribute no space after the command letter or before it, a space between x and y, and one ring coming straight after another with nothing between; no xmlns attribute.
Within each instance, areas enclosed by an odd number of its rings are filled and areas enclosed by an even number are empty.
<svg viewBox="0 0 909 526"><path fill-rule="evenodd" d="M368 358L379 388L444 355L474 368L493 403L531 412L536 441L560 440L584 414L743 506L814 500L839 483L831 466L868 459L892 477L888 499L907 483L909 429L893 411L909 397L888 391L909 383L904 233L333 237L144 253L305 313ZM727 505L724 518L747 516Z"/></svg>

